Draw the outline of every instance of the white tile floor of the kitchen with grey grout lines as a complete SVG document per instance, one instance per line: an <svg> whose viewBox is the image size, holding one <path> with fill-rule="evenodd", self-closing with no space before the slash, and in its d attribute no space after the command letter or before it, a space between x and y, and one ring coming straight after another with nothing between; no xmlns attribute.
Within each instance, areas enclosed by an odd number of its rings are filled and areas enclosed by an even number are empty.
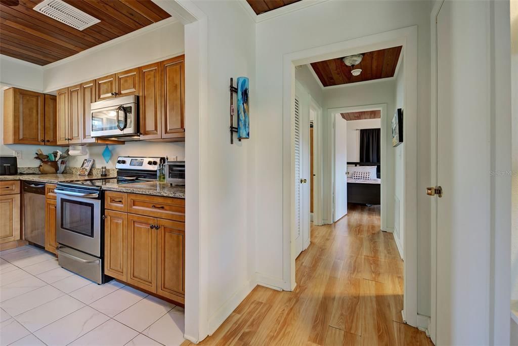
<svg viewBox="0 0 518 346"><path fill-rule="evenodd" d="M181 307L61 268L32 246L0 251L0 346L179 345Z"/></svg>

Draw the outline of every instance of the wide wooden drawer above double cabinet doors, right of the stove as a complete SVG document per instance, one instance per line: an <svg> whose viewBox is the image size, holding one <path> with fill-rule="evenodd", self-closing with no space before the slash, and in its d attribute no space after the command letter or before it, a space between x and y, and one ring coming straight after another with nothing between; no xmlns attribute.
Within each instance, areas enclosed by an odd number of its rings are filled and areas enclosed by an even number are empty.
<svg viewBox="0 0 518 346"><path fill-rule="evenodd" d="M185 221L185 200L181 198L128 194L128 213L167 220Z"/></svg>

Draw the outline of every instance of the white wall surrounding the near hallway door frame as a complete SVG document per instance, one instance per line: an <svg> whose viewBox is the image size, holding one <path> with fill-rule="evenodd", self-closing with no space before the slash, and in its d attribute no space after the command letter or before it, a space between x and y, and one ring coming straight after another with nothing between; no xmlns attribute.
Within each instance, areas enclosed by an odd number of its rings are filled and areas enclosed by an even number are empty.
<svg viewBox="0 0 518 346"><path fill-rule="evenodd" d="M418 186L429 183L430 3L328 1L257 24L257 272L280 286L283 277L283 55L312 47L418 25ZM368 19L368 25L366 25ZM358 95L364 99L365 95ZM393 99L387 100L393 103ZM361 102L355 103L355 105ZM340 104L340 106L343 106ZM332 108L326 105L327 108ZM393 112L390 111L392 114ZM289 156L288 156L289 157ZM419 232L429 233L429 201L418 200ZM428 306L426 306L428 305ZM429 311L429 301L422 311Z"/></svg>

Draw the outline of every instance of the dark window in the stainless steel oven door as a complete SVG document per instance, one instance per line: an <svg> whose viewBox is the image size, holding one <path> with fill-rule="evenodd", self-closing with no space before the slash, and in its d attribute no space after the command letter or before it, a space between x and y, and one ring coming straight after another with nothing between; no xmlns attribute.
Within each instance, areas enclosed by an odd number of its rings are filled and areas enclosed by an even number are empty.
<svg viewBox="0 0 518 346"><path fill-rule="evenodd" d="M61 199L61 228L94 237L94 204Z"/></svg>

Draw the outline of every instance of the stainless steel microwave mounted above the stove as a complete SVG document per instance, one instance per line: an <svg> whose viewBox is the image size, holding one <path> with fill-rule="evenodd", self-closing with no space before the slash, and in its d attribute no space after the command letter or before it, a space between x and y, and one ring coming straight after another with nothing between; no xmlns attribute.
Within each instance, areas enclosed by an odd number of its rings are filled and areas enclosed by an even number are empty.
<svg viewBox="0 0 518 346"><path fill-rule="evenodd" d="M90 107L92 137L138 136L138 96L94 102Z"/></svg>

